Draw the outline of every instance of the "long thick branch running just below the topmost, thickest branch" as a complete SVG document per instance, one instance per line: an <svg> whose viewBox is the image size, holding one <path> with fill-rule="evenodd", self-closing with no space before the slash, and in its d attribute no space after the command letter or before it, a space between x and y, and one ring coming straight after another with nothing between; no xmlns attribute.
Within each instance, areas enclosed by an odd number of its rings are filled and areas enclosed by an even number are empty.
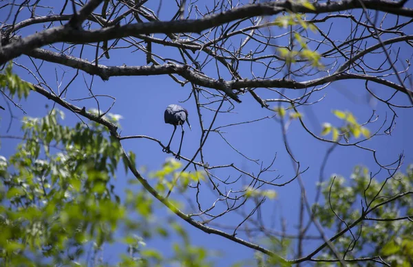
<svg viewBox="0 0 413 267"><path fill-rule="evenodd" d="M413 36L412 36L413 37ZM83 60L80 58L75 58L72 56L66 56L63 54L54 53L44 49L34 49L27 53L28 56L34 58L39 58L41 60L47 60L48 62L59 63L68 67L73 67L74 69L81 69L86 73L91 75L100 76L103 80L108 80L112 76L149 76L149 75L163 75L163 74L179 74L183 78L198 84L200 86L220 90L227 95L229 95L233 100L240 102L239 98L233 89L238 89L242 92L245 88L256 88L256 87L271 87L271 88L286 88L286 89L307 89L313 86L319 86L327 84L328 82L335 82L339 80L369 80L371 82L376 82L378 84L383 84L392 89L400 91L405 94L412 94L412 91L405 89L399 84L390 82L388 80L378 78L376 76L369 76L366 74L357 73L337 73L332 76L325 76L322 78L317 78L315 80L308 80L306 82L297 82L294 80L284 80L284 79L254 79L254 80L231 80L222 81L215 80L208 76L205 76L198 71L189 69L189 67L176 65L176 64L165 64L159 66L105 66L105 65L94 65L92 62Z"/></svg>

